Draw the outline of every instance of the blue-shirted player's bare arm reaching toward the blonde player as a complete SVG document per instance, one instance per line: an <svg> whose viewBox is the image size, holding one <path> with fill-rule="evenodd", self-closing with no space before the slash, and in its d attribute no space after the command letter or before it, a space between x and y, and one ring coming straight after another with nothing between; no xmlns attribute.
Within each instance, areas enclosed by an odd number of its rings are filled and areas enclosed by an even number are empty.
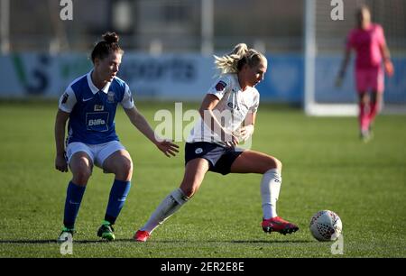
<svg viewBox="0 0 406 276"><path fill-rule="evenodd" d="M172 143L169 140L162 139L154 133L152 127L146 121L145 117L136 109L133 108L126 109L125 114L130 119L131 123L141 132L145 137L147 137L152 143L154 143L161 152L163 152L167 157L175 156L179 152L179 146Z"/></svg>

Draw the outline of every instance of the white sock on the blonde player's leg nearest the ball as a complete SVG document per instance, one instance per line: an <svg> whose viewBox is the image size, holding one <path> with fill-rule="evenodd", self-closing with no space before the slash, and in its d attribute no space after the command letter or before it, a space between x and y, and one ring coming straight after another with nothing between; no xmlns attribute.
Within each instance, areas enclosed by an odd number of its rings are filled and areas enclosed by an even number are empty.
<svg viewBox="0 0 406 276"><path fill-rule="evenodd" d="M278 170L268 170L261 180L261 197L263 199L263 218L269 219L276 214L276 201L281 190L281 175Z"/></svg>

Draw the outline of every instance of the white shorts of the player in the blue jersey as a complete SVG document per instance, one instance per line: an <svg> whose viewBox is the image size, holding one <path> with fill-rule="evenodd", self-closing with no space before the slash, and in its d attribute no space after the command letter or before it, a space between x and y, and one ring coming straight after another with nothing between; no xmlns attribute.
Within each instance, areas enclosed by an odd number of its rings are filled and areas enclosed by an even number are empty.
<svg viewBox="0 0 406 276"><path fill-rule="evenodd" d="M107 143L88 144L73 142L69 143L66 148L66 155L68 163L76 152L86 152L92 162L99 168L103 169L103 162L116 151L125 150L125 147L118 141L111 141Z"/></svg>

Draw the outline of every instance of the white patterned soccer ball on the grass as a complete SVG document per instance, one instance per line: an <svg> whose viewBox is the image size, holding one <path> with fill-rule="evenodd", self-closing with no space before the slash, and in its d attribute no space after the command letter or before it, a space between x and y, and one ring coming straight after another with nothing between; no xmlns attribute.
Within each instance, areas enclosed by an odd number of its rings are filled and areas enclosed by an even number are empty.
<svg viewBox="0 0 406 276"><path fill-rule="evenodd" d="M319 211L311 217L310 233L320 242L337 240L342 229L341 219L333 211Z"/></svg>

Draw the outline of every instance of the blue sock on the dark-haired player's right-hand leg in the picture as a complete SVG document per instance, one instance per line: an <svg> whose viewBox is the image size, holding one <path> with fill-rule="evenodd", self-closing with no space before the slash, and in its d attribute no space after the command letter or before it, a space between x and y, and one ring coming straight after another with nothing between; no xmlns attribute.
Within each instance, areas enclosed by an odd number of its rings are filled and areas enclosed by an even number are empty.
<svg viewBox="0 0 406 276"><path fill-rule="evenodd" d="M115 219L120 214L121 209L125 205L125 198L127 198L130 191L131 182L115 179L113 187L110 190L110 198L108 198L108 205L106 210L105 220L111 225L115 224Z"/></svg>

